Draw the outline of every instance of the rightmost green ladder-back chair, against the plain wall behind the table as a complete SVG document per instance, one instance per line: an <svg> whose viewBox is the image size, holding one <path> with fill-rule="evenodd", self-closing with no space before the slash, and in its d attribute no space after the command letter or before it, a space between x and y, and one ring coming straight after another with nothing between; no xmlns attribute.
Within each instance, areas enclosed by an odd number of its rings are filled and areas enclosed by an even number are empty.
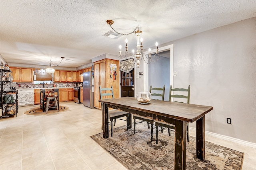
<svg viewBox="0 0 256 170"><path fill-rule="evenodd" d="M178 92L179 94L173 94L172 95L172 92ZM190 85L188 85L188 88L185 89L185 88L172 88L172 85L170 85L170 94L169 94L169 101L171 101L171 98L180 98L181 100L182 99L185 99L186 100L186 103L189 104L189 99L190 99ZM182 102L184 103L185 100ZM174 101L174 102L178 102L178 101ZM169 136L171 135L170 134L170 130L174 130L175 129L175 126L172 125L172 124L169 124L169 123L165 123L165 122L162 122L162 121L155 121L155 125L156 125L156 144L158 143L158 126L161 127L161 131L162 131L162 127L167 127L168 128L168 133L169 133ZM162 131L163 133L163 131ZM189 142L189 133L188 133L188 124L187 124L187 132L186 132L186 135L187 135L187 140Z"/></svg>

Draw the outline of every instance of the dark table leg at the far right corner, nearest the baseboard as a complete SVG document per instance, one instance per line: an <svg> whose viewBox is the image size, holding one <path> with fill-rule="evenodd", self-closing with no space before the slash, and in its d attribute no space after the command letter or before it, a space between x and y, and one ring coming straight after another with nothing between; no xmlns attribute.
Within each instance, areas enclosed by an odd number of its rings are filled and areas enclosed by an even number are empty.
<svg viewBox="0 0 256 170"><path fill-rule="evenodd" d="M205 156L205 137L204 137L204 116L196 121L196 158L204 160Z"/></svg>

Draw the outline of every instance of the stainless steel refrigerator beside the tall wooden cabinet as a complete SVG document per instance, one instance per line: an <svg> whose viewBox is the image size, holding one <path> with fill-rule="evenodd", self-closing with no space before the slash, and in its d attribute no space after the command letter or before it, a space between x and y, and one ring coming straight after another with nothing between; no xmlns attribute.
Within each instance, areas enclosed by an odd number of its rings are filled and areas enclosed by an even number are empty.
<svg viewBox="0 0 256 170"><path fill-rule="evenodd" d="M94 108L94 72L83 74L83 105Z"/></svg>

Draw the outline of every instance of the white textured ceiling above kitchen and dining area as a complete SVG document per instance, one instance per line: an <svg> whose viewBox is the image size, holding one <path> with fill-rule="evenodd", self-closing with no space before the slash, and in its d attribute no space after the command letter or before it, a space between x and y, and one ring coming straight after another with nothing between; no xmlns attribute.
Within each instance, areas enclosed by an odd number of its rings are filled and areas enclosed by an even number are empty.
<svg viewBox="0 0 256 170"><path fill-rule="evenodd" d="M0 54L8 63L77 67L136 35L102 36L139 25L144 49L256 16L255 0L0 0ZM124 48L123 48L124 51ZM73 60L73 61L68 61Z"/></svg>

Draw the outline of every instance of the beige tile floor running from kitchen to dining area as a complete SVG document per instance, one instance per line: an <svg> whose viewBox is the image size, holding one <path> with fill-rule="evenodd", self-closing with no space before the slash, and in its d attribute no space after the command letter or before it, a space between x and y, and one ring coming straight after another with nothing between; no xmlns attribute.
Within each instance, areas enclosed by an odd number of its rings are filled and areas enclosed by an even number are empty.
<svg viewBox="0 0 256 170"><path fill-rule="evenodd" d="M25 106L18 117L0 119L0 170L126 170L90 138L102 132L100 110L74 102L60 105L69 109L25 115L39 107ZM116 127L125 124L117 121ZM242 170L256 170L256 149L207 135L206 140L244 152Z"/></svg>

